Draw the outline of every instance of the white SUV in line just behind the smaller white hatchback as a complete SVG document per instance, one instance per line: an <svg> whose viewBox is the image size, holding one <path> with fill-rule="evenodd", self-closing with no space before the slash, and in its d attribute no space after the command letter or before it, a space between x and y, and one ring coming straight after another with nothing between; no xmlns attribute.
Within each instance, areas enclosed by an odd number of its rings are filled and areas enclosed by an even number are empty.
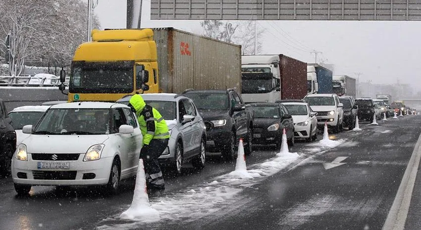
<svg viewBox="0 0 421 230"><path fill-rule="evenodd" d="M322 128L327 122L328 128L337 133L343 128L343 104L335 93L309 94L304 97L313 111L317 112L317 126Z"/></svg>

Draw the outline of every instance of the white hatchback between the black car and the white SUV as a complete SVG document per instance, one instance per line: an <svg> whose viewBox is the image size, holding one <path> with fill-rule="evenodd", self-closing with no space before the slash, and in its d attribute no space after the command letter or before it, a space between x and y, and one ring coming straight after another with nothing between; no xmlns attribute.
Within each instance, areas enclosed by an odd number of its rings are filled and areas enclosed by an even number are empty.
<svg viewBox="0 0 421 230"><path fill-rule="evenodd" d="M295 138L311 142L317 139L317 118L309 104L301 100L280 100L294 120Z"/></svg>

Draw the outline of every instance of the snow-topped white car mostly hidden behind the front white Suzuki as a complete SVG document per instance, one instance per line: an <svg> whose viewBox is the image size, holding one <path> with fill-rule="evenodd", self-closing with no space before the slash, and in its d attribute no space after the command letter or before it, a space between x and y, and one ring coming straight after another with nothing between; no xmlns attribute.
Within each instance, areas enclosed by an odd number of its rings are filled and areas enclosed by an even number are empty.
<svg viewBox="0 0 421 230"><path fill-rule="evenodd" d="M35 126L48 108L50 106L47 105L20 106L7 114L12 119L13 129L16 132L16 146L19 146L23 139L29 137L29 134L22 133L23 126Z"/></svg>

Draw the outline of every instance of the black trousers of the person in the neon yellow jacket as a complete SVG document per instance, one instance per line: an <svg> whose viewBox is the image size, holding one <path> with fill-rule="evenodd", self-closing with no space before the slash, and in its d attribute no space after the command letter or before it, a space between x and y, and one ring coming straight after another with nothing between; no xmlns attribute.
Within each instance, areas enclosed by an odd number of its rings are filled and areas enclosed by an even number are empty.
<svg viewBox="0 0 421 230"><path fill-rule="evenodd" d="M168 146L168 139L152 139L149 145L145 145L140 151L140 158L145 162L146 182L153 187L165 186L158 157Z"/></svg>

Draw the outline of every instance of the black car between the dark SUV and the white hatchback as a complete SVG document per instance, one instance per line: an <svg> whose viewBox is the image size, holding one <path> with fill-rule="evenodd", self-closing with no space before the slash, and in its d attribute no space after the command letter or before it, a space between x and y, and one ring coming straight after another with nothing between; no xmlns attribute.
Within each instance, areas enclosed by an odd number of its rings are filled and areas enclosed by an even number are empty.
<svg viewBox="0 0 421 230"><path fill-rule="evenodd" d="M285 128L288 145L294 145L294 121L288 109L281 103L252 103L253 143L276 144L281 147L282 133Z"/></svg>

